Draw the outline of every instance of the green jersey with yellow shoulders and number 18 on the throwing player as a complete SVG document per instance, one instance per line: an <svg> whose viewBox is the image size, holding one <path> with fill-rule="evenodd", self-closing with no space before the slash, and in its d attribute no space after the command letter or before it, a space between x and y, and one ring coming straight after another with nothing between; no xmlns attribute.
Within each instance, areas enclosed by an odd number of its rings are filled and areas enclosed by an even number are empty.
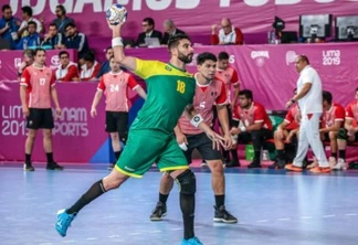
<svg viewBox="0 0 358 245"><path fill-rule="evenodd" d="M172 135L179 117L192 104L196 81L186 71L158 61L137 58L135 73L147 84L147 98L131 129L156 130L157 137Z"/></svg>

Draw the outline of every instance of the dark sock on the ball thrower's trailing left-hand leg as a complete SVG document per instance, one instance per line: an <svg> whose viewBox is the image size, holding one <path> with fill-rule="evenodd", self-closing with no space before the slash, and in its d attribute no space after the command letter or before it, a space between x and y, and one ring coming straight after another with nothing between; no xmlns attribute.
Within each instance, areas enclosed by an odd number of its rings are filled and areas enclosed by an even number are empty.
<svg viewBox="0 0 358 245"><path fill-rule="evenodd" d="M85 205L87 205L90 202L105 193L106 190L104 190L102 180L95 182L86 193L84 193L78 201L73 204L69 210L66 210L67 214L78 213L80 210L82 210Z"/></svg>

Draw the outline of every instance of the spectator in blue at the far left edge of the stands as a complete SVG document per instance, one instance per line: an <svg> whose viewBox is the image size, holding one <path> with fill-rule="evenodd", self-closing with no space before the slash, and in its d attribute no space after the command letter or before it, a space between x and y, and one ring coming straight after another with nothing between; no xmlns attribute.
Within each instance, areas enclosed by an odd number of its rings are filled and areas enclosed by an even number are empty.
<svg viewBox="0 0 358 245"><path fill-rule="evenodd" d="M19 41L18 31L21 21L12 15L9 4L2 6L2 19L0 19L0 38L10 42L11 49L14 50Z"/></svg>

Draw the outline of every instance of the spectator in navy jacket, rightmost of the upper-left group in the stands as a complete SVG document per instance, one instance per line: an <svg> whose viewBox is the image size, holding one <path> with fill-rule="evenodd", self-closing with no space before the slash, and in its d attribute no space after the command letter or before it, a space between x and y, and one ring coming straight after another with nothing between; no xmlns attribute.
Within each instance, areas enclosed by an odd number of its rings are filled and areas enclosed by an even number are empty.
<svg viewBox="0 0 358 245"><path fill-rule="evenodd" d="M86 35L78 32L74 23L69 23L65 26L65 31L66 38L64 39L64 45L66 49L77 50L78 57L82 57L90 51Z"/></svg>

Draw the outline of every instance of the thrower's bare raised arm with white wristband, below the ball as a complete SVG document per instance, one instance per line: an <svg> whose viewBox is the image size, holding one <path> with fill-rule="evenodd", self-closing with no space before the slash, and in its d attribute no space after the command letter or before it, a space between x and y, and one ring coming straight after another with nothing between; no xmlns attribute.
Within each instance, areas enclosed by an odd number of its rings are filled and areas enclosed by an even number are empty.
<svg viewBox="0 0 358 245"><path fill-rule="evenodd" d="M115 61L120 63L122 66L125 66L127 70L134 72L137 68L137 62L135 57L126 56L124 53L123 39L120 36L120 30L124 22L117 25L110 25L108 22L108 26L112 30L112 47L114 52Z"/></svg>

